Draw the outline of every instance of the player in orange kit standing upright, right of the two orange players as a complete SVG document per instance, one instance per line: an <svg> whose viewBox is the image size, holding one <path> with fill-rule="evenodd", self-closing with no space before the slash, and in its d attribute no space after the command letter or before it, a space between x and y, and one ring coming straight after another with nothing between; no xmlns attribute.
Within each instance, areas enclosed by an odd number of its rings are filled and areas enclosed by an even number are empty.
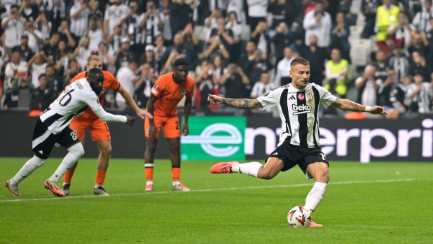
<svg viewBox="0 0 433 244"><path fill-rule="evenodd" d="M177 117L177 103L185 99L185 121L182 134L188 135L188 117L191 112L192 97L195 82L188 76L188 62L177 59L173 65L174 71L160 76L151 89L151 97L147 103L147 111L153 119L144 120L144 135L146 136L146 153L144 154L144 174L146 175L146 189L153 190L153 155L155 154L158 134L163 128L165 138L170 145L170 159L172 161L172 189L187 192L189 189L179 182L180 179L180 136L179 118Z"/></svg>

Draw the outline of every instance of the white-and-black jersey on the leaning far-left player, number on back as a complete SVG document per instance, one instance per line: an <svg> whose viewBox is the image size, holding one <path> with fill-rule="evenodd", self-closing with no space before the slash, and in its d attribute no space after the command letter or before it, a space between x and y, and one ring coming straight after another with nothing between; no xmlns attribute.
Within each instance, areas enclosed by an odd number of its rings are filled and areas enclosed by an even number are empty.
<svg viewBox="0 0 433 244"><path fill-rule="evenodd" d="M111 113L105 112L99 103L99 98L85 78L71 82L62 94L50 104L50 107L43 111L40 118L46 124L48 130L53 134L59 134L69 125L69 122L74 117L81 115L88 107L101 120L107 122L126 122L126 117L123 115L111 115Z"/></svg>

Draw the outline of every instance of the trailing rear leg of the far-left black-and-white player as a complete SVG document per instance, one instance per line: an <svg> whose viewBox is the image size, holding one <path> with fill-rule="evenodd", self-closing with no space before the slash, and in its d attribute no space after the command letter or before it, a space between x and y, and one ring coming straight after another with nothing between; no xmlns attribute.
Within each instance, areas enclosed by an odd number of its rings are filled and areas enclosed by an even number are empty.
<svg viewBox="0 0 433 244"><path fill-rule="evenodd" d="M27 178L33 171L36 170L36 168L39 168L40 166L43 166L45 164L46 159L41 159L39 157L32 157L29 159L24 166L18 171L18 173L13 176L10 180L6 181L5 186L9 189L12 196L21 196L20 190L18 189L18 184Z"/></svg>

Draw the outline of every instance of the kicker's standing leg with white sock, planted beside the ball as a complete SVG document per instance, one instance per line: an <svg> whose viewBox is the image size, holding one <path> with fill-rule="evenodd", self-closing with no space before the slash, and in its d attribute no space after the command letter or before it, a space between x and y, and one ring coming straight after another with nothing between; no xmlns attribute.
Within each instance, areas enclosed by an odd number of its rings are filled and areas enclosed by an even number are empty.
<svg viewBox="0 0 433 244"><path fill-rule="evenodd" d="M312 186L310 193L305 199L304 208L310 211L310 214L319 206L322 201L324 193L327 190L329 182L328 164L324 162L316 162L307 166L307 172L314 178L315 184ZM322 224L310 222L310 228L323 227Z"/></svg>

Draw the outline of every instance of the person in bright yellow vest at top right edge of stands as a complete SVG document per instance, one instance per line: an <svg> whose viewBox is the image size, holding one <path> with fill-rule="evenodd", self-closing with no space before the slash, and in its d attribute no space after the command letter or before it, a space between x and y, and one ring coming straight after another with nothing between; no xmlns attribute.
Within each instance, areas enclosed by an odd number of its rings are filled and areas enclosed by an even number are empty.
<svg viewBox="0 0 433 244"><path fill-rule="evenodd" d="M377 33L377 41L385 41L388 28L398 22L399 12L400 8L392 4L392 0L383 0L383 5L376 12L374 31Z"/></svg>

